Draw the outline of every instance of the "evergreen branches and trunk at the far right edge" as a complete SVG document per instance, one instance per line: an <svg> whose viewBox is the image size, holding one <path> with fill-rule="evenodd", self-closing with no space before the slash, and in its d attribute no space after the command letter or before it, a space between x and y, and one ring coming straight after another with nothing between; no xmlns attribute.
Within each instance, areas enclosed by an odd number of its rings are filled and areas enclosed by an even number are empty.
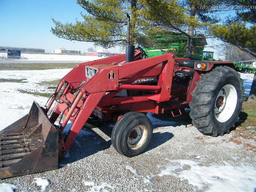
<svg viewBox="0 0 256 192"><path fill-rule="evenodd" d="M235 16L224 25L213 25L210 32L224 42L231 43L241 50L256 57L256 1L229 0L233 6L240 6ZM248 24L249 23L249 24ZM250 91L250 100L256 101L256 74Z"/></svg>

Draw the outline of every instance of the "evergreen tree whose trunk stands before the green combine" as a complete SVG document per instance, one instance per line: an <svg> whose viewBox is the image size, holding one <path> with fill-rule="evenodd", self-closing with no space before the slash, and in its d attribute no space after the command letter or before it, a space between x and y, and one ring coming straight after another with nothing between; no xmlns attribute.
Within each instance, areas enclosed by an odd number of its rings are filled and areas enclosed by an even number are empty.
<svg viewBox="0 0 256 192"><path fill-rule="evenodd" d="M206 34L210 24L218 22L216 11L208 10L219 0L144 0L143 18L147 26L165 31L180 32L187 38L187 56L191 56L195 32ZM153 29L155 30L155 29Z"/></svg>

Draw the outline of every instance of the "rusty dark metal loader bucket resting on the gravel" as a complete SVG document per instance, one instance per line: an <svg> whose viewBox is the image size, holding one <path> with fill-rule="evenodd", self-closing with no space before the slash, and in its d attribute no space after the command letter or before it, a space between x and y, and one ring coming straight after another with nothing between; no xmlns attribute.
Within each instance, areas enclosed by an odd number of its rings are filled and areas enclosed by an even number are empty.
<svg viewBox="0 0 256 192"><path fill-rule="evenodd" d="M44 109L33 102L27 115L0 131L0 178L57 169L59 139Z"/></svg>

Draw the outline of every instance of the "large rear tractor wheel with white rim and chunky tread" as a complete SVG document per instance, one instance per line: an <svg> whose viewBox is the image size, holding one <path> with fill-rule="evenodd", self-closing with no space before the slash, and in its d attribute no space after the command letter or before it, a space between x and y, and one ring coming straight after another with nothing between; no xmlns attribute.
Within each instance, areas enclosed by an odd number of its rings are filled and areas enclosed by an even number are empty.
<svg viewBox="0 0 256 192"><path fill-rule="evenodd" d="M193 125L204 135L229 133L241 111L243 93L243 80L230 67L218 66L202 74L189 104Z"/></svg>

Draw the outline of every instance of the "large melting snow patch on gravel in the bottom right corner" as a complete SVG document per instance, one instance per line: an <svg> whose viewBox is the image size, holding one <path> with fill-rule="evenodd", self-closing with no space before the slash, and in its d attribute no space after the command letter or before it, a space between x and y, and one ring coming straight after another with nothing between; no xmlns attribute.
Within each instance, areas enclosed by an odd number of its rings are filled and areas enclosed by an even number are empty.
<svg viewBox="0 0 256 192"><path fill-rule="evenodd" d="M175 176L187 180L194 191L208 187L207 192L254 192L256 168L248 166L201 166L192 160L169 160L171 165L159 166L158 176ZM186 167L186 168L184 168Z"/></svg>

